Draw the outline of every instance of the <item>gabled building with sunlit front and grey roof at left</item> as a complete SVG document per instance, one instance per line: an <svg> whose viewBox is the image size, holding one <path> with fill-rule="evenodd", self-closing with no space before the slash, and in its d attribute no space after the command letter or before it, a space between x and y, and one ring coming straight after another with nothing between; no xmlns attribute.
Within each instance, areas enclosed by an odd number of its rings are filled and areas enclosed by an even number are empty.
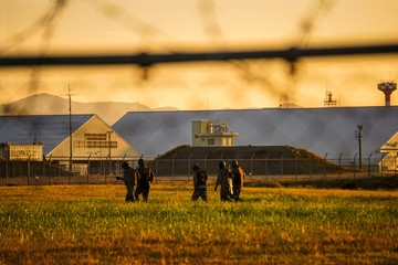
<svg viewBox="0 0 398 265"><path fill-rule="evenodd" d="M72 115L71 125L72 137L69 115L0 116L0 142L41 142L46 160L67 167L72 158L75 171L84 170L88 162L94 165L107 161L109 168L115 168L122 160L142 157L136 148L97 115Z"/></svg>

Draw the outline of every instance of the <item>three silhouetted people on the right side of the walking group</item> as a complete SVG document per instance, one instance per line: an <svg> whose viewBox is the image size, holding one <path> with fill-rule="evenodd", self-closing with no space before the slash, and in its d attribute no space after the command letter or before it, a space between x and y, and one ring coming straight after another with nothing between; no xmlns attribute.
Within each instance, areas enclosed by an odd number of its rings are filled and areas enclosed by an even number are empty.
<svg viewBox="0 0 398 265"><path fill-rule="evenodd" d="M199 165L193 165L193 193L192 201L197 201L199 197L203 201L207 200L207 174L206 171L200 169ZM242 191L245 173L243 169L234 160L231 162L231 170L227 168L226 161L219 161L219 171L216 180L214 191L221 186L220 199L221 201L240 201L240 193Z"/></svg>

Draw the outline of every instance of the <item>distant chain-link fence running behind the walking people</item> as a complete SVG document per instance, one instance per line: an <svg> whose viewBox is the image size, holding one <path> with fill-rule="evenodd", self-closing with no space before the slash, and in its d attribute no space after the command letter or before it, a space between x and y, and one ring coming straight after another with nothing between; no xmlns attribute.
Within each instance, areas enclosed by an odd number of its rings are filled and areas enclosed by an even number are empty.
<svg viewBox="0 0 398 265"><path fill-rule="evenodd" d="M365 178L397 174L397 158L384 156L354 158L270 158L239 159L247 179L265 181ZM220 159L155 159L148 166L156 174L156 181L191 180L192 167L198 163L210 180L214 180ZM232 160L226 160L228 167ZM137 161L128 161L133 168ZM66 166L50 161L0 161L0 184L54 184L54 183L109 183L122 176L122 161L92 161L73 163L73 172ZM392 165L392 166L391 166Z"/></svg>

